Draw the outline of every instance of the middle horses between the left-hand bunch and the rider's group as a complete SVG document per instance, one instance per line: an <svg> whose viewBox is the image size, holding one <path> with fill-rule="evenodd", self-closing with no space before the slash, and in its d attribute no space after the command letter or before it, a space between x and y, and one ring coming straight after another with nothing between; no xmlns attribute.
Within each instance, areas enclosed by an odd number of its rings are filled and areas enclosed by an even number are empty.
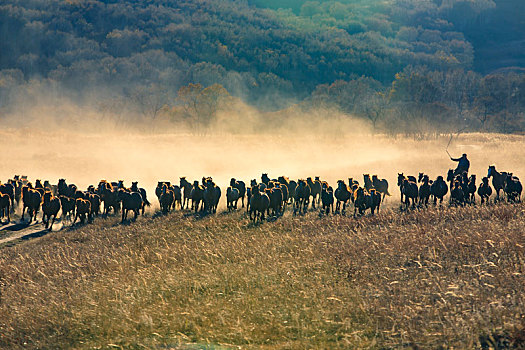
<svg viewBox="0 0 525 350"><path fill-rule="evenodd" d="M189 182L180 178L179 184L158 182L155 194L159 199L162 212L168 213L177 207L191 210L195 213L211 214L217 211L221 198L221 189L212 178L203 177L201 181ZM321 213L345 213L349 202L354 203L354 215L363 214L370 209L372 214L379 210L381 196L388 193L388 182L377 176L365 175L365 187L359 182L349 179L347 185L338 181L335 191L326 181L319 177L312 179L290 180L286 176L270 179L268 174L262 174L261 181L253 179L249 186L244 181L232 178L226 189L226 207L228 211L238 209L239 201L242 208L250 215L250 220L262 221L267 216L278 217L291 207L293 215L304 214L308 208L320 208ZM335 209L334 209L335 203Z"/></svg>

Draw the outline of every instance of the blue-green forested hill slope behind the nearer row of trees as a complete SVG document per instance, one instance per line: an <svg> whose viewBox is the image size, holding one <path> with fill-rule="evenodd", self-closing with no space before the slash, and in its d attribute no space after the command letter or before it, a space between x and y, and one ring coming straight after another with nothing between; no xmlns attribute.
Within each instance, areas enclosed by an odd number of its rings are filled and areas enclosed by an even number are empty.
<svg viewBox="0 0 525 350"><path fill-rule="evenodd" d="M31 79L79 96L221 84L256 105L406 67L525 67L523 0L4 0L0 97ZM277 98L278 97L278 98ZM0 106L1 108L1 106Z"/></svg>

